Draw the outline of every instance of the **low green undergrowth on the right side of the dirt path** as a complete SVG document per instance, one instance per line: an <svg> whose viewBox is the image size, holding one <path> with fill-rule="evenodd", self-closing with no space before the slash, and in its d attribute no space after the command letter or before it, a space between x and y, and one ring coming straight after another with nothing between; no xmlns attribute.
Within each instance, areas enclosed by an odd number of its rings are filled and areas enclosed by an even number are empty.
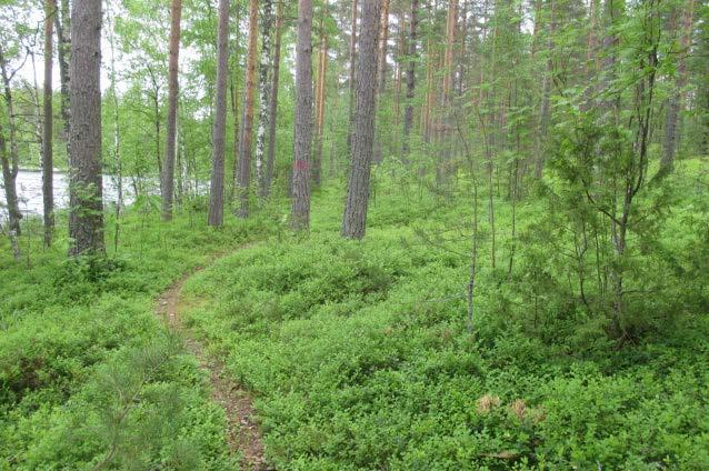
<svg viewBox="0 0 709 471"><path fill-rule="evenodd" d="M187 322L252 391L272 464L709 467L709 320L698 304L622 345L603 317L581 308L563 314L572 305L559 301L565 292L550 291L532 313L519 287L530 282L523 269L533 248L518 244L508 275L511 209L503 198L497 204L505 267L490 268L481 228L473 333L465 298L469 203L407 198L393 186L377 192L362 242L339 238L341 191L330 189L313 204L309 237L251 245L188 281ZM517 216L522 236L546 218L523 202ZM481 226L486 218L481 204ZM700 247L682 237L676 252ZM668 275L668 285L679 284Z"/></svg>

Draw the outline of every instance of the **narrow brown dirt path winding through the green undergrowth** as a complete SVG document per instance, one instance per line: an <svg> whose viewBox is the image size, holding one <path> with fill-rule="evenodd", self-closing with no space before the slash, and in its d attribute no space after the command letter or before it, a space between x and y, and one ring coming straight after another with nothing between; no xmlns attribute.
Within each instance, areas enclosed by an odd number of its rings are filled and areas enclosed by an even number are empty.
<svg viewBox="0 0 709 471"><path fill-rule="evenodd" d="M197 268L184 274L160 298L156 314L172 330L184 335L184 344L199 360L200 368L207 370L212 385L212 399L224 409L228 419L227 442L232 454L241 452L241 464L247 470L266 471L269 467L263 459L263 443L259 428L254 421L254 412L249 393L229 378L224 371L224 364L218 359L207 354L203 345L197 341L182 325L180 318L180 292L184 282L194 273L203 270Z"/></svg>

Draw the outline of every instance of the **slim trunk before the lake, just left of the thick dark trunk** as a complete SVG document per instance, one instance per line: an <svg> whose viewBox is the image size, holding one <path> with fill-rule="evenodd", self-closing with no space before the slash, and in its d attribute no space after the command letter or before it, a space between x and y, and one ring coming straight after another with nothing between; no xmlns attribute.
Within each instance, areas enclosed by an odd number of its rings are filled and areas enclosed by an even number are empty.
<svg viewBox="0 0 709 471"><path fill-rule="evenodd" d="M44 203L44 247L52 244L54 233L54 190L53 190L53 107L52 107L52 59L53 59L53 17L58 14L57 1L44 3L44 126L42 133L42 200Z"/></svg>

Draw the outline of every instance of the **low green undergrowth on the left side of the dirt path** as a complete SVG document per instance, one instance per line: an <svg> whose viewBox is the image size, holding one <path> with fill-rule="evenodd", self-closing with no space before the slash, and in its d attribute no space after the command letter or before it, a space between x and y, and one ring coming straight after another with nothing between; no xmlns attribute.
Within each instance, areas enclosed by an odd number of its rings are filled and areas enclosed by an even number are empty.
<svg viewBox="0 0 709 471"><path fill-rule="evenodd" d="M208 375L153 314L154 299L266 224L214 231L202 213L159 218L129 211L118 251L109 220L107 259L67 261L63 224L52 249L21 262L0 248L0 469L238 469ZM29 221L22 248L39 233Z"/></svg>

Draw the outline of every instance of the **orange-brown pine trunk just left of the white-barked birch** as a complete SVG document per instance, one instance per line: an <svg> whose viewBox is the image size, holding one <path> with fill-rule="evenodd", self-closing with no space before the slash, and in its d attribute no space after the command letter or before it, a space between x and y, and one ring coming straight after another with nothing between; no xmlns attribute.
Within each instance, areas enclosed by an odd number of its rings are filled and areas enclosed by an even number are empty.
<svg viewBox="0 0 709 471"><path fill-rule="evenodd" d="M243 120L239 140L239 172L237 194L239 211L237 217L249 217L249 181L251 177L251 136L253 134L253 93L256 91L256 56L258 50L259 2L249 2L249 52L247 59L246 94L243 99Z"/></svg>

